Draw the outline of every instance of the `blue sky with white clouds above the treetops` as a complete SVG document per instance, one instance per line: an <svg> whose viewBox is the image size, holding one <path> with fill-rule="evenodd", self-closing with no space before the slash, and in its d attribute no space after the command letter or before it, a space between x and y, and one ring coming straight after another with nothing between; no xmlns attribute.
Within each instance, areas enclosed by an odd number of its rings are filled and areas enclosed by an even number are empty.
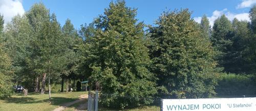
<svg viewBox="0 0 256 111"><path fill-rule="evenodd" d="M79 29L81 24L89 24L103 14L111 0L0 0L0 13L4 15L6 24L13 16L23 15L33 4L40 2L50 13L56 14L61 25L69 18L75 29ZM250 21L248 12L253 5L256 5L256 0L126 0L127 7L138 9L136 18L145 24L154 24L163 11L181 8L192 11L191 17L197 22L205 14L211 26L222 14L229 20L238 18Z"/></svg>

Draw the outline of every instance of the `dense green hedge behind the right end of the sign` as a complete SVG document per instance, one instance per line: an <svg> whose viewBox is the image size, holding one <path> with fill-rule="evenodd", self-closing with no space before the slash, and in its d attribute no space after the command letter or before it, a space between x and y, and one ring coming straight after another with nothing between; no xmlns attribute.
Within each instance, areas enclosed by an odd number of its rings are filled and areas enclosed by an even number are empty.
<svg viewBox="0 0 256 111"><path fill-rule="evenodd" d="M254 76L223 73L216 88L218 96L254 95Z"/></svg>

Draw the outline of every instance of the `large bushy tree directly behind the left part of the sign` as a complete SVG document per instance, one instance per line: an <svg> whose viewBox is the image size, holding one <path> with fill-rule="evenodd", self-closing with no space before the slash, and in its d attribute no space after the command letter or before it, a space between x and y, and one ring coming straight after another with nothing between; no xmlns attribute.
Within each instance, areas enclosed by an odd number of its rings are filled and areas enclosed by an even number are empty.
<svg viewBox="0 0 256 111"><path fill-rule="evenodd" d="M215 51L188 9L163 12L150 27L152 71L159 95L202 98L215 94Z"/></svg>

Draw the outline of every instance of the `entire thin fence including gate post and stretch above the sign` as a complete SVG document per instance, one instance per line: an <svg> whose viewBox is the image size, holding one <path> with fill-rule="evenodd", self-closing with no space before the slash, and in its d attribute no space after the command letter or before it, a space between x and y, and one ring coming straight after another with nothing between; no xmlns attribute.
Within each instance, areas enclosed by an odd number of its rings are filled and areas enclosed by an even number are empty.
<svg viewBox="0 0 256 111"><path fill-rule="evenodd" d="M248 98L254 95L233 95L218 96L216 98ZM214 97L215 98L215 97ZM155 97L131 97L129 95L120 96L114 94L98 94L89 92L88 110L160 110L161 98ZM146 104L146 105L145 105Z"/></svg>

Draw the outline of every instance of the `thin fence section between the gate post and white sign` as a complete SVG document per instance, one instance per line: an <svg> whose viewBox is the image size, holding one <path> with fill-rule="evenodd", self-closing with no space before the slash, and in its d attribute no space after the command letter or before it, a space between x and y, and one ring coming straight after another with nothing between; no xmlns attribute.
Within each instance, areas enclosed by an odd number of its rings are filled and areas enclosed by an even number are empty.
<svg viewBox="0 0 256 111"><path fill-rule="evenodd" d="M145 105L146 104L146 105ZM161 99L100 94L98 110L160 110Z"/></svg>

